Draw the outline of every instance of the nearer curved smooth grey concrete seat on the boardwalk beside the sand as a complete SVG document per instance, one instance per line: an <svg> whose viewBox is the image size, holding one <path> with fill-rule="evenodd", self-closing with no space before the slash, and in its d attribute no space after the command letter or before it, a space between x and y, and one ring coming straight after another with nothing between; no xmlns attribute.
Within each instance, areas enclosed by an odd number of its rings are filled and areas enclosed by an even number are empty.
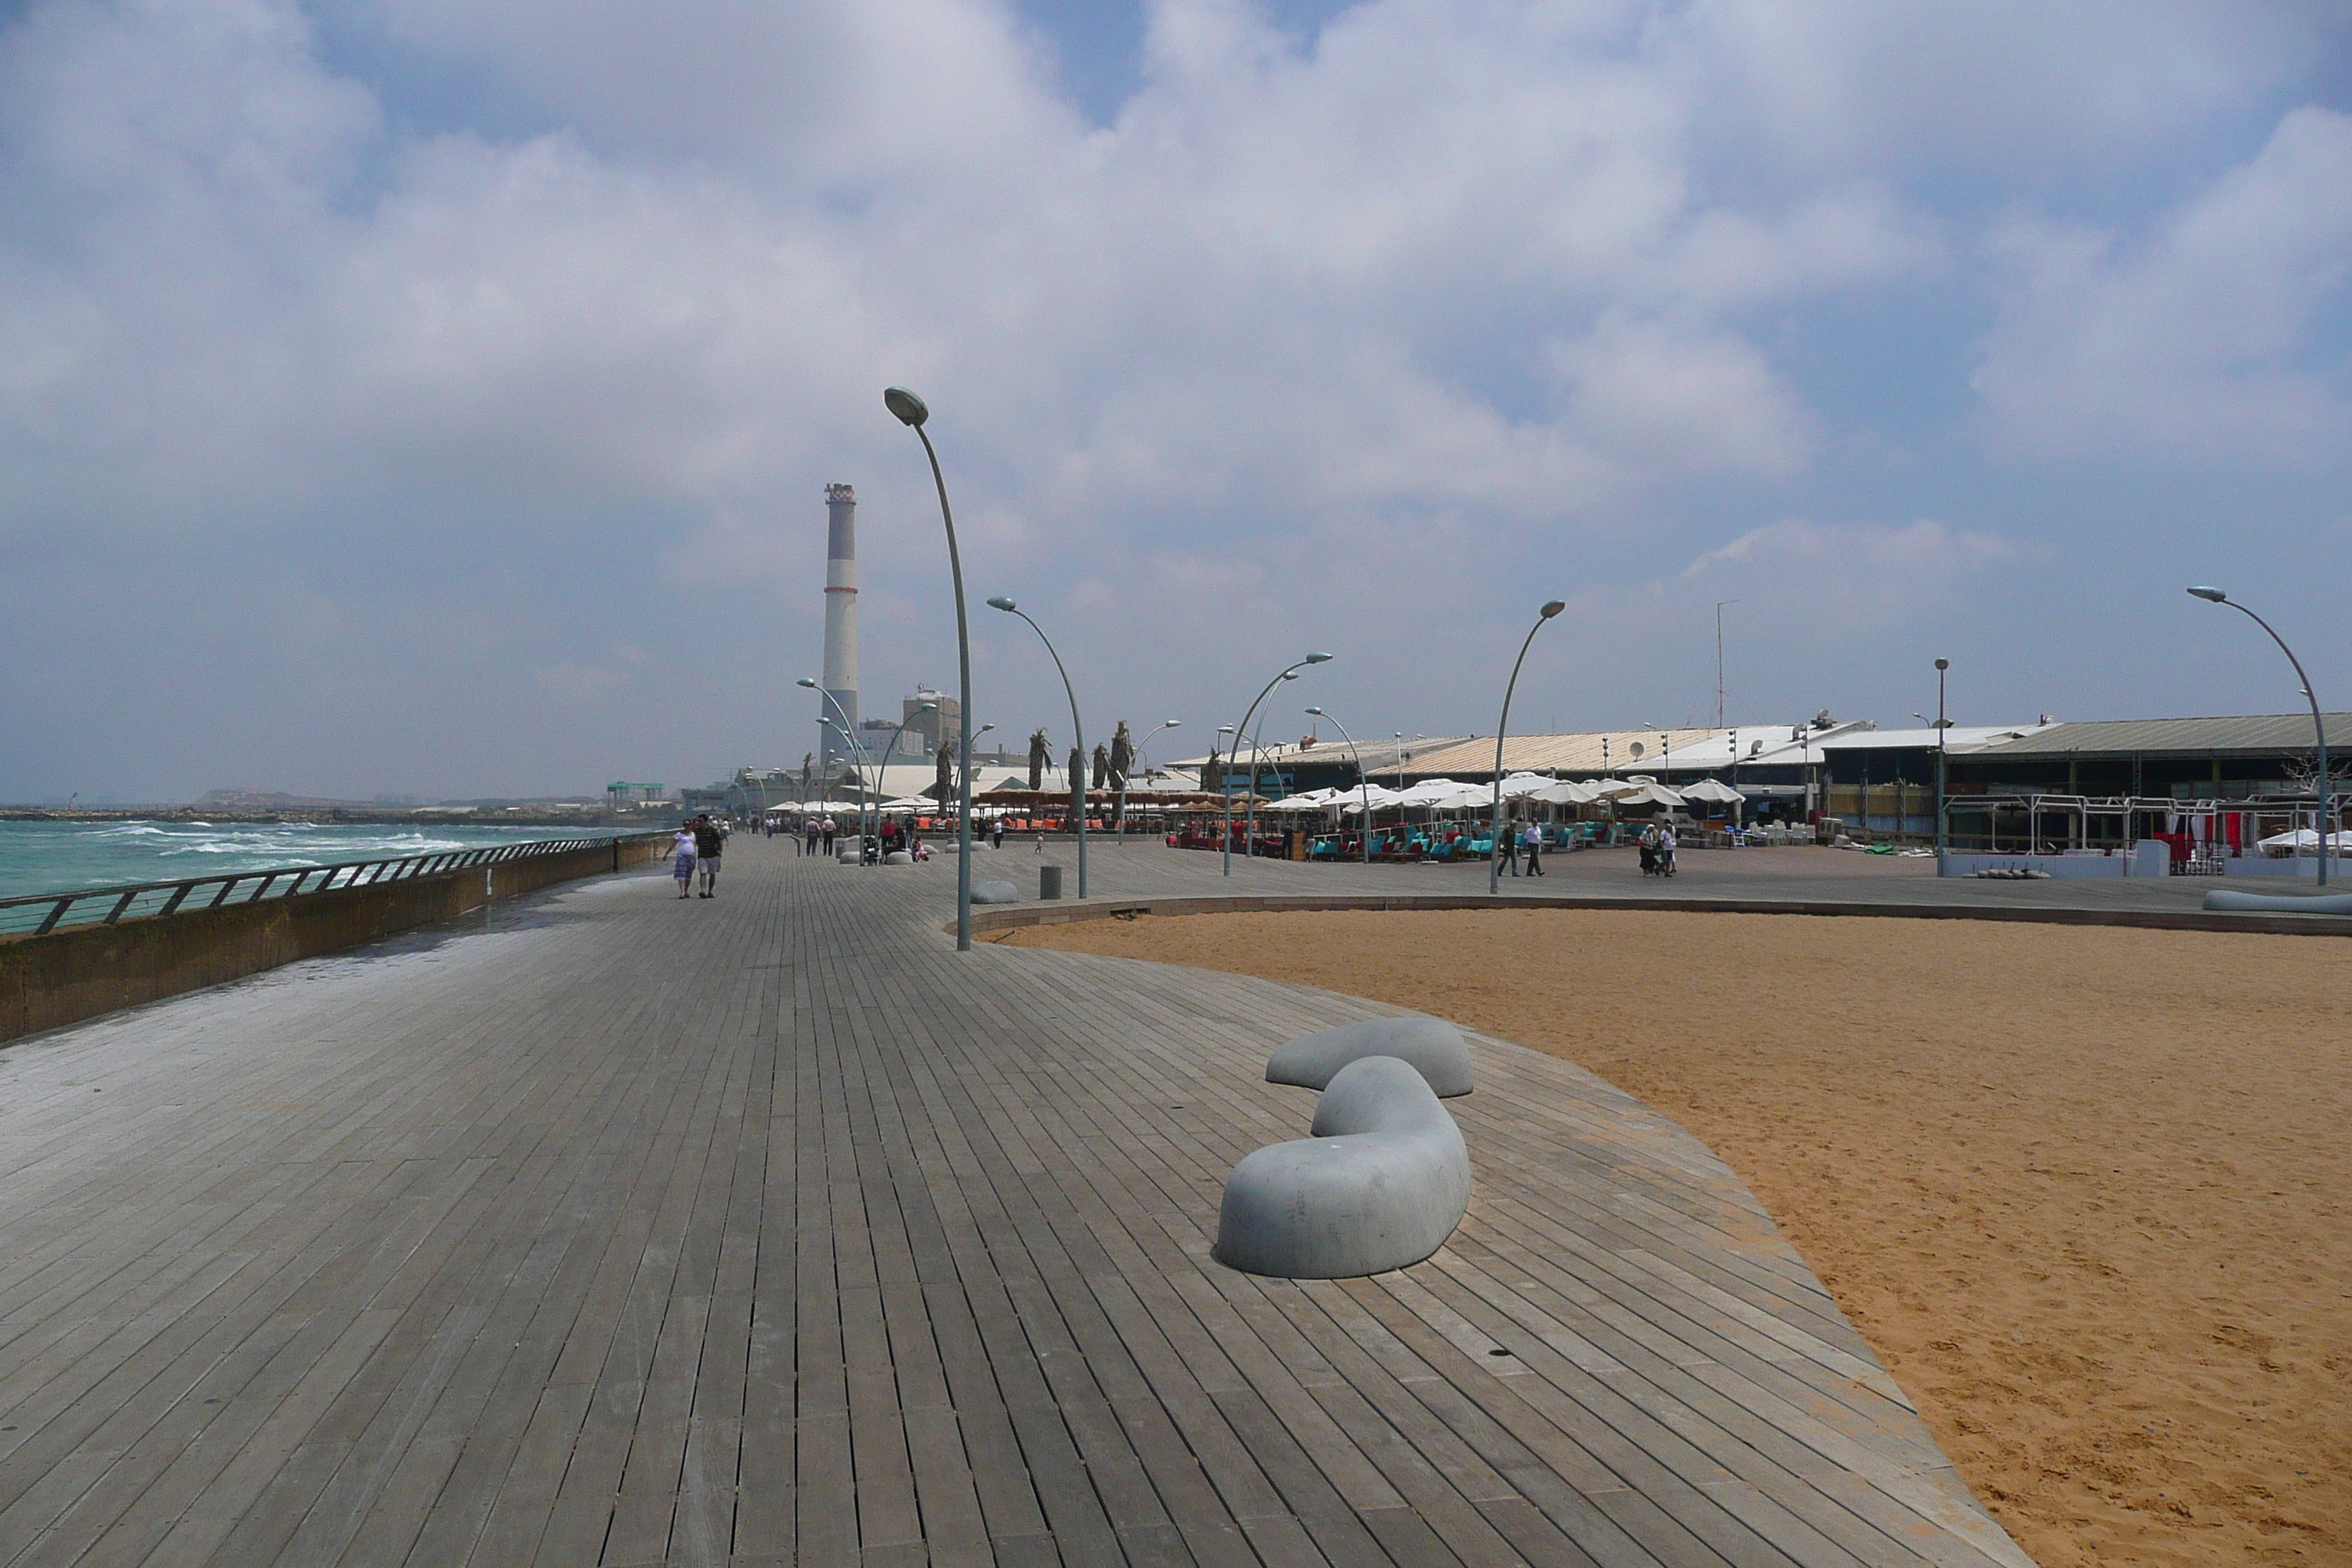
<svg viewBox="0 0 2352 1568"><path fill-rule="evenodd" d="M1225 1178L1216 1260L1277 1279L1355 1279L1421 1262L1470 1208L1470 1147L1428 1079L1395 1056L1334 1074L1312 1138Z"/></svg>

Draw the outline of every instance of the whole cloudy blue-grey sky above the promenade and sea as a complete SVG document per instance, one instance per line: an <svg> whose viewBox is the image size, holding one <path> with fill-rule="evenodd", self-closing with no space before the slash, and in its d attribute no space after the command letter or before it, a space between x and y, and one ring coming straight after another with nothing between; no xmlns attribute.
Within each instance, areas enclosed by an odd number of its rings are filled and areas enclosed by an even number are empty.
<svg viewBox="0 0 2352 1568"><path fill-rule="evenodd" d="M2321 2L0 0L0 799L797 764L887 383L1014 736L2352 708L2347 268Z"/></svg>

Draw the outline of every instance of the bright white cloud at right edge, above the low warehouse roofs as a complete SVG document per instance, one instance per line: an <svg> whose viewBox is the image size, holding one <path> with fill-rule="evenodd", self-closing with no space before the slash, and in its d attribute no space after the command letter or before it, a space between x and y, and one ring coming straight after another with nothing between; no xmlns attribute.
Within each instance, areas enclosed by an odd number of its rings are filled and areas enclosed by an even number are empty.
<svg viewBox="0 0 2352 1568"><path fill-rule="evenodd" d="M2293 110L2140 247L2020 221L1997 256L1973 386L2013 451L2314 461L2352 430L2352 367L2310 353L2352 275L2352 115Z"/></svg>

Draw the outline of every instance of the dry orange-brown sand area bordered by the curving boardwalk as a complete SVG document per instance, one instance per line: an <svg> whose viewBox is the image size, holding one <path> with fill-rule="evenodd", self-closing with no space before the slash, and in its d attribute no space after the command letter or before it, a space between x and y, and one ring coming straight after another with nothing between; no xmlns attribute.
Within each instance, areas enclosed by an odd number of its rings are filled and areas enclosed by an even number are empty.
<svg viewBox="0 0 2352 1568"><path fill-rule="evenodd" d="M2039 1563L2352 1563L2352 947L1677 912L1009 940L1376 997L1715 1147Z"/></svg>

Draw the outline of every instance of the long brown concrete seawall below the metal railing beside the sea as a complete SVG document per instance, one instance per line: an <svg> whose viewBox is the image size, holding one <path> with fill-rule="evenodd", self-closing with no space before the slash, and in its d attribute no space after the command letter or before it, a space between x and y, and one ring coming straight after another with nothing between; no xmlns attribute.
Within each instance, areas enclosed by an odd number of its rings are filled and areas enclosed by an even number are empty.
<svg viewBox="0 0 2352 1568"><path fill-rule="evenodd" d="M341 952L557 882L647 865L666 849L668 835L612 839L402 882L0 940L0 1041Z"/></svg>

